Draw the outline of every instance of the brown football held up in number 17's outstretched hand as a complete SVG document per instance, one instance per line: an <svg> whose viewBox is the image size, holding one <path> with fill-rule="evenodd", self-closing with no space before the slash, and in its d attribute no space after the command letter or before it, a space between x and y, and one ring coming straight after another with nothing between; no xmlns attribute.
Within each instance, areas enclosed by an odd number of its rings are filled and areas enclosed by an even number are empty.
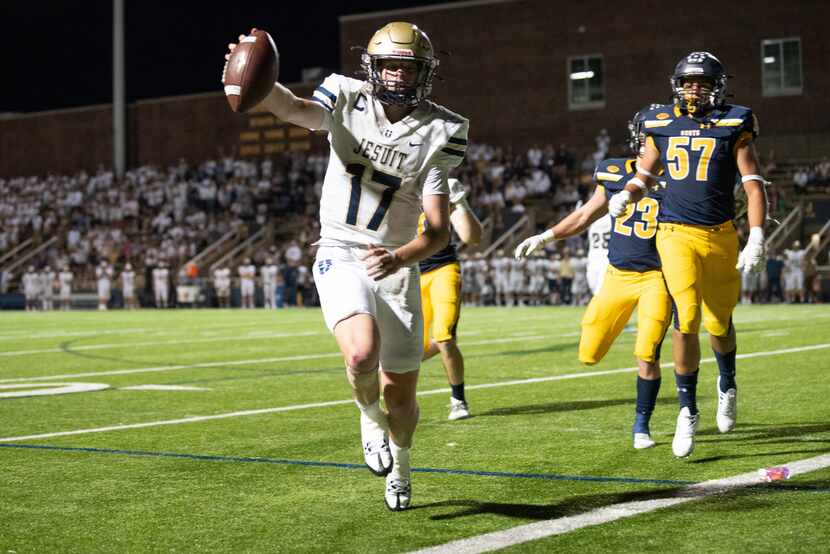
<svg viewBox="0 0 830 554"><path fill-rule="evenodd" d="M279 75L280 55L271 35L251 29L222 73L225 96L235 112L247 112L268 96Z"/></svg>

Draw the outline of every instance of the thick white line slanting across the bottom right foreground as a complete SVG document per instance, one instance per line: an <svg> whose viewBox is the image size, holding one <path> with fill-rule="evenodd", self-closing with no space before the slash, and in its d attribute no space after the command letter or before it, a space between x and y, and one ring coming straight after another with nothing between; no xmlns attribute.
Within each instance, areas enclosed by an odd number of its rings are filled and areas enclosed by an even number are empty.
<svg viewBox="0 0 830 554"><path fill-rule="evenodd" d="M830 454L822 454L815 458L796 460L785 464L790 468L790 475L809 473L830 466ZM714 494L721 494L735 489L758 485L763 479L757 471L742 473L733 477L714 479L696 483L675 492L668 498L654 500L639 500L621 502L610 506L596 508L576 516L538 521L527 525L519 525L503 531L485 533L467 539L448 542L439 546L417 550L413 554L475 554L491 552L525 542L544 539L554 535L562 535L570 531L616 521L625 517L632 517L662 508L677 506L693 500L700 500Z"/></svg>

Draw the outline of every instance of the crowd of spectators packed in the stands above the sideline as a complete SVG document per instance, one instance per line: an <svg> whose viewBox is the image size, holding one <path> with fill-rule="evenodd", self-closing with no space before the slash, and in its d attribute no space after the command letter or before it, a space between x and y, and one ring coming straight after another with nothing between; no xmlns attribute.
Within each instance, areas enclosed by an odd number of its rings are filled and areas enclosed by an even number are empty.
<svg viewBox="0 0 830 554"><path fill-rule="evenodd" d="M596 163L624 155L625 149L614 147L604 129L582 155L565 144L527 150L470 144L456 176L468 188L473 210L482 221L490 221L492 236L498 237L531 208L544 213L536 218L539 229L563 218L590 195ZM300 222L292 244L243 255L262 266L266 258L288 263L285 252L296 256L299 250L301 263L308 265L311 244L319 236L327 162L325 155L292 152L256 161L221 157L198 165L184 160L167 168L145 165L121 179L104 168L0 179L0 253L28 238L43 243L56 237L26 265L55 271L68 267L76 290L94 289L94 270L101 261L116 270L131 262L139 276L149 276L164 262L175 280L187 260L229 231L244 238L290 217ZM772 154L765 170L775 170ZM826 158L793 175L796 186L828 179ZM770 196L777 204L775 191ZM574 238L565 249L576 255L587 245ZM560 246L557 254L563 253ZM203 272L203 277L210 276Z"/></svg>

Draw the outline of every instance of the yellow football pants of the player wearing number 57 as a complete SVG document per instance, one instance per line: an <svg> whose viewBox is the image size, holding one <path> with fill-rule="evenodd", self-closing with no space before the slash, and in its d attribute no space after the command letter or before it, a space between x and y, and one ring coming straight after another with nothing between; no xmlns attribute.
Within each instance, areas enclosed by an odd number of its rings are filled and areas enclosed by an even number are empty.
<svg viewBox="0 0 830 554"><path fill-rule="evenodd" d="M741 274L735 269L738 235L733 223L710 227L661 223L657 251L680 332L698 333L702 316L710 335L728 335L732 310L741 294Z"/></svg>

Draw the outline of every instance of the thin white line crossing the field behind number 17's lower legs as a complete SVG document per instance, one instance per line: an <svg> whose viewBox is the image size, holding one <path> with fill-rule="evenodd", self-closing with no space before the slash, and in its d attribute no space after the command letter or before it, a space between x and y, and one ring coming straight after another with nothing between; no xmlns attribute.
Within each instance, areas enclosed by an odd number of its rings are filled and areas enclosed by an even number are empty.
<svg viewBox="0 0 830 554"><path fill-rule="evenodd" d="M804 352L808 350L819 350L823 348L830 348L830 343L828 344L814 344L810 346L801 346L796 348L785 348L782 350L768 350L762 352L749 352L747 354L741 354L739 357L741 358L755 358L755 357L764 357L764 356L776 356L779 354L789 354L793 352ZM340 356L340 354L329 354L329 356ZM701 363L705 362L712 362L714 358L706 358L701 360ZM587 371L587 372L580 372L580 373L568 373L564 375L551 375L549 377L535 377L530 379L517 379L514 381L501 381L498 383L483 383L480 385L470 385L467 387L467 390L473 389L485 389L485 388L497 388L497 387L507 387L513 385L527 385L531 383L544 383L548 381L562 381L565 379L582 379L586 377L598 377L602 375L613 375L615 373L627 373L636 371L636 367L625 367L619 369L608 369L604 371ZM53 377L56 379L56 377ZM418 393L418 396L430 396L434 394L446 394L449 389L441 388L441 389L432 389L428 391L421 391ZM92 429L76 429L73 431L59 431L55 433L41 433L37 435L26 435L20 437L5 437L0 438L0 442L15 442L15 441L24 441L24 440L34 440L34 439L48 439L53 437L65 437L70 435L86 435L89 433L104 433L108 431L123 431L127 429L141 429L145 427L158 427L162 425L177 425L179 423L194 423L197 421L210 421L214 419L227 419L230 417L243 417L243 416L250 416L250 415L262 415L262 414L270 414L270 413L278 413L278 412L288 412L293 410L305 410L309 408L321 408L326 406L340 406L343 404L350 404L353 400L333 400L330 402L319 402L319 403L312 403L312 404L295 404L292 406L278 406L275 408L262 408L258 410L245 410L239 412L231 412L225 414L215 414L215 415L208 415L208 416L193 416L183 419L172 419L172 420L162 420L162 421L149 421L145 423L132 423L132 424L125 424L125 425L113 425L108 427L96 427Z"/></svg>

